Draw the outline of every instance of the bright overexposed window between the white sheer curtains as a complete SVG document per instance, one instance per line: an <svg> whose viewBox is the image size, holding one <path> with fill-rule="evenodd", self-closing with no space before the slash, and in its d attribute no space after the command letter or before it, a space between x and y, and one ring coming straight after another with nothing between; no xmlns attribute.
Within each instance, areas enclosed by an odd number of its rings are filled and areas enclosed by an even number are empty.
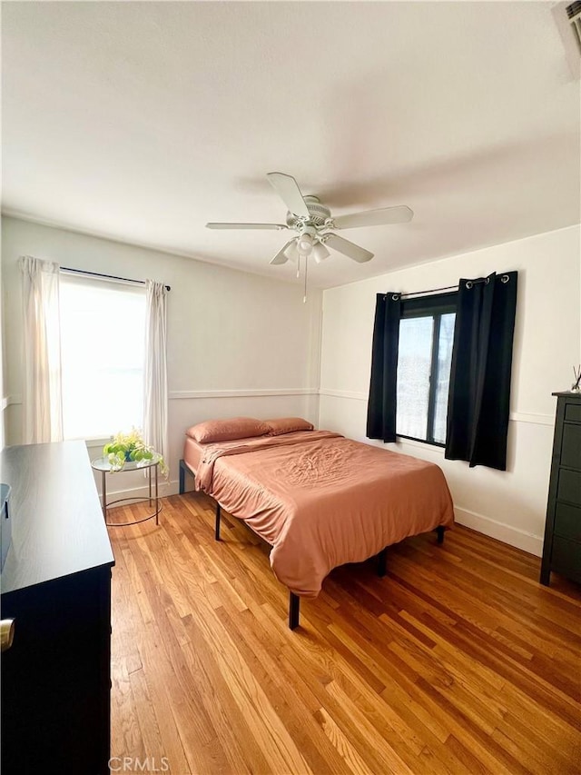
<svg viewBox="0 0 581 775"><path fill-rule="evenodd" d="M60 316L64 438L141 427L144 288L62 273Z"/></svg>

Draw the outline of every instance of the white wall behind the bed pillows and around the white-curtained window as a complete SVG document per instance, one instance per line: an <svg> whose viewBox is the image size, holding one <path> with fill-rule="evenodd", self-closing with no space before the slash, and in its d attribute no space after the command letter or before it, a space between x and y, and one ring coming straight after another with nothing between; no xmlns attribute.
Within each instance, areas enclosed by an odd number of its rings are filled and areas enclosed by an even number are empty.
<svg viewBox="0 0 581 775"><path fill-rule="evenodd" d="M171 481L163 494L177 492L183 432L195 422L238 414L299 415L317 422L320 291L312 289L303 304L298 285L8 217L2 219L2 247L9 402L6 443L22 442L22 298L17 260L25 254L76 269L135 280L148 277L171 285ZM111 327L103 327L103 347L107 337L123 336L123 324L113 317ZM95 447L90 453L98 457L100 450ZM135 474L115 476L108 489L136 486Z"/></svg>

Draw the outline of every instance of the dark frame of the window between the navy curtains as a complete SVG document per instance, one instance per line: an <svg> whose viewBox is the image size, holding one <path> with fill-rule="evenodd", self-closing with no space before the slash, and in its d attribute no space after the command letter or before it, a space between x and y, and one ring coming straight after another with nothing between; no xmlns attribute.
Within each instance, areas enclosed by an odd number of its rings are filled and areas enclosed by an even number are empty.
<svg viewBox="0 0 581 775"><path fill-rule="evenodd" d="M399 324L402 320L409 318L419 317L437 317L437 324L432 327L432 347L431 347L431 363L429 366L429 391L428 391L428 418L427 418L427 430L426 435L431 435L431 439L419 439L417 436L408 436L403 433L398 433L398 407L396 404L396 439L406 439L410 442L419 442L422 444L429 444L431 447L438 447L439 449L445 449L446 442L435 442L433 440L434 435L434 415L436 413L436 385L437 381L432 379L432 374L438 366L438 349L439 349L439 331L441 325L442 315L458 313L458 291L452 291L451 293L439 293L434 296L417 296L413 299L402 298L401 309L399 314ZM456 321L455 321L456 323ZM438 346L434 346L434 345ZM398 343L398 366L399 366L399 343ZM398 389L398 376L396 375L396 394Z"/></svg>

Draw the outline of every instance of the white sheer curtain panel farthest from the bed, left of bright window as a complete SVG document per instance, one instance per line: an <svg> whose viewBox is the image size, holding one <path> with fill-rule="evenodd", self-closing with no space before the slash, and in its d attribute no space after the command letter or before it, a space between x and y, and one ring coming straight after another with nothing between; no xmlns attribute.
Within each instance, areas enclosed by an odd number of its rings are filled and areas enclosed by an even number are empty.
<svg viewBox="0 0 581 775"><path fill-rule="evenodd" d="M24 441L63 441L59 265L20 258L24 310Z"/></svg>

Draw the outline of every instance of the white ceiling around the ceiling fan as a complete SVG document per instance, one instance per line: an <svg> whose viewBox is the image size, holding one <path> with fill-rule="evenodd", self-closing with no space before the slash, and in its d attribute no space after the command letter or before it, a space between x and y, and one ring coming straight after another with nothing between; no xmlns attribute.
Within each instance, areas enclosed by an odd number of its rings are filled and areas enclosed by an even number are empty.
<svg viewBox="0 0 581 775"><path fill-rule="evenodd" d="M3 209L291 279L265 174L374 252L321 287L578 223L580 92L546 2L2 4Z"/></svg>

